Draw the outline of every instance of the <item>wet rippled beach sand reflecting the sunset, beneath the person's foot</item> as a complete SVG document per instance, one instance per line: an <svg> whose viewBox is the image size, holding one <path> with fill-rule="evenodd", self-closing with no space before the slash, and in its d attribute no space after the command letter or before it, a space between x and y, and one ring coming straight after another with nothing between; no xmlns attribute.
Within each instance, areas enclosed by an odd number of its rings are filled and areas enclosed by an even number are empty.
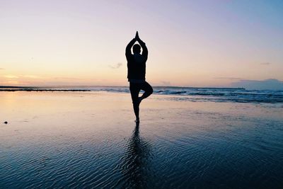
<svg viewBox="0 0 283 189"><path fill-rule="evenodd" d="M282 188L283 107L1 92L0 188ZM7 121L8 124L4 124Z"/></svg>

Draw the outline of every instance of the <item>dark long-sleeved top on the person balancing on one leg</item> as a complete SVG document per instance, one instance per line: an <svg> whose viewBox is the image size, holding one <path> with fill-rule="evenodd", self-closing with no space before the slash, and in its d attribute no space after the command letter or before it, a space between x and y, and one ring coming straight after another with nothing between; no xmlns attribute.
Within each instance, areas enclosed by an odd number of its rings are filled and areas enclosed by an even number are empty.
<svg viewBox="0 0 283 189"><path fill-rule="evenodd" d="M128 67L127 78L129 79L129 81L131 81L131 79L145 81L146 60L147 60L148 50L146 48L146 44L141 40L138 40L139 45L141 45L142 48L142 53L141 55L138 53L135 53L133 55L131 49L132 46L134 45L134 42L136 41L137 41L136 39L131 40L126 47L126 57L127 57L127 67Z"/></svg>

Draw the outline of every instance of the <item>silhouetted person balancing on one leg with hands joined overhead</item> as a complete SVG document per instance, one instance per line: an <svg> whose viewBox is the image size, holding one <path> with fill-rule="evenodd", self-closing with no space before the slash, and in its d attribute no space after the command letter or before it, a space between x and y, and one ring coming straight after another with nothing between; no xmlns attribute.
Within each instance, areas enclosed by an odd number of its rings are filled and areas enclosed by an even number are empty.
<svg viewBox="0 0 283 189"><path fill-rule="evenodd" d="M139 42L135 44L134 42ZM131 49L133 47L132 54ZM142 48L142 53L141 53ZM153 89L149 83L146 82L146 60L148 55L146 44L139 38L139 33L136 33L126 47L127 67L128 67L128 81L129 91L131 91L132 103L134 106L134 114L136 115L136 122L139 122L139 104L144 98L147 98L153 93ZM139 91L144 91L139 97Z"/></svg>

